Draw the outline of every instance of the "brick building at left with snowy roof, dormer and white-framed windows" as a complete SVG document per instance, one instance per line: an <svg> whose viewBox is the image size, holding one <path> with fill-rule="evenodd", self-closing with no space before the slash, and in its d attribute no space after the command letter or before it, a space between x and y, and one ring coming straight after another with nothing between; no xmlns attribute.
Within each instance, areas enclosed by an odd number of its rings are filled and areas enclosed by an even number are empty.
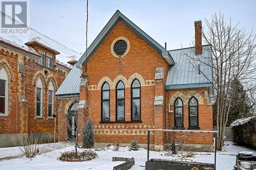
<svg viewBox="0 0 256 170"><path fill-rule="evenodd" d="M55 92L72 68L66 57L80 56L32 28L28 32L0 37L0 147L19 145L19 134L52 140Z"/></svg>

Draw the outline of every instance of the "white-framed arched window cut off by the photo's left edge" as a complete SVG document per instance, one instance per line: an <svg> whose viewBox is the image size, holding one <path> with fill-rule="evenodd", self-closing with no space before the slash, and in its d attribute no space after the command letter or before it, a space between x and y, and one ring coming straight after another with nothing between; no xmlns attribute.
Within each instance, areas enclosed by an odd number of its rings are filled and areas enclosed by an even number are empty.
<svg viewBox="0 0 256 170"><path fill-rule="evenodd" d="M8 74L4 67L0 69L0 79L6 83L5 96L1 96L1 98L5 98L5 113L0 113L0 116L8 116Z"/></svg>

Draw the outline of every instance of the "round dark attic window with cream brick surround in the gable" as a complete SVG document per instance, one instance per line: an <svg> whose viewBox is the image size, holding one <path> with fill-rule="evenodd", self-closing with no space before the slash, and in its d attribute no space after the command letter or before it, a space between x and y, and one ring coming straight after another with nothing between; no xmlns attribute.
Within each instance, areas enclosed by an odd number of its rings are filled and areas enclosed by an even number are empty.
<svg viewBox="0 0 256 170"><path fill-rule="evenodd" d="M130 50L130 42L125 37L116 38L111 45L111 53L115 57L124 57Z"/></svg>

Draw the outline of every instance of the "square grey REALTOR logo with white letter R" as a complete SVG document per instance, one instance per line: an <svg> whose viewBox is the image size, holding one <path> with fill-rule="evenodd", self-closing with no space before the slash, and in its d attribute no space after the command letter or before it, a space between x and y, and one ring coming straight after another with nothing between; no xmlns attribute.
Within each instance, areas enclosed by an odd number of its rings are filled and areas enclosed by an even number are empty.
<svg viewBox="0 0 256 170"><path fill-rule="evenodd" d="M1 34L27 34L28 1L1 1Z"/></svg>

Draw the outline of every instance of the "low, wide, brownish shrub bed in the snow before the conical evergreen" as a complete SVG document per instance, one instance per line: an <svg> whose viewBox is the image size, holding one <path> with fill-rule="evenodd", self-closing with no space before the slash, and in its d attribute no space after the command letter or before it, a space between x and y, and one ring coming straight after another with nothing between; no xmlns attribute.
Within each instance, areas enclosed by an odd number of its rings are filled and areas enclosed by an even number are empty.
<svg viewBox="0 0 256 170"><path fill-rule="evenodd" d="M89 161L95 158L98 158L98 154L91 150L77 152L77 156L75 151L68 151L61 153L60 157L58 157L58 160L66 162L82 162Z"/></svg>

